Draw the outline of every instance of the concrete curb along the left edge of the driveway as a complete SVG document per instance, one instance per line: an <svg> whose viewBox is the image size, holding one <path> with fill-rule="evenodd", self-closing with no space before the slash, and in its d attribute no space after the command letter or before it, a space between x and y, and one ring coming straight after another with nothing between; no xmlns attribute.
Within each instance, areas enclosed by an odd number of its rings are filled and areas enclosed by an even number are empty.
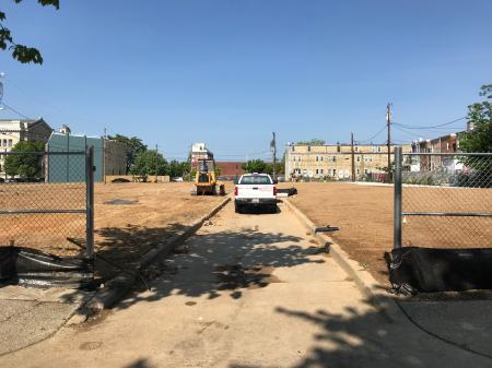
<svg viewBox="0 0 492 368"><path fill-rule="evenodd" d="M96 294L85 302L79 311L75 313L68 323L81 323L85 319L95 312L107 309L120 300L137 282L138 273L151 264L157 257L167 256L176 248L177 245L181 244L189 236L195 234L203 223L215 215L220 210L222 210L231 201L231 195L227 195L221 203L219 203L212 211L202 216L200 219L192 223L186 230L177 232L176 235L172 236L165 245L161 245L145 254L140 259L139 265L137 266L136 273L120 272L115 277L105 283L104 287L98 289Z"/></svg>

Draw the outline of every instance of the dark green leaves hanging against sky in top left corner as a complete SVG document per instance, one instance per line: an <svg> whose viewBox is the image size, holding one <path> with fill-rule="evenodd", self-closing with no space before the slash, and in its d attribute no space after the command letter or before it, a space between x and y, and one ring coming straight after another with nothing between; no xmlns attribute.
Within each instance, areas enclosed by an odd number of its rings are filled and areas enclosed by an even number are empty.
<svg viewBox="0 0 492 368"><path fill-rule="evenodd" d="M15 3L22 2L22 0L14 0ZM60 8L59 0L37 0L39 4L43 7L51 5L57 10ZM43 57L38 49L34 47L28 47L25 45L16 44L13 40L11 32L1 22L7 20L7 15L4 12L0 11L0 49L2 50L12 50L12 58L22 63L43 63Z"/></svg>

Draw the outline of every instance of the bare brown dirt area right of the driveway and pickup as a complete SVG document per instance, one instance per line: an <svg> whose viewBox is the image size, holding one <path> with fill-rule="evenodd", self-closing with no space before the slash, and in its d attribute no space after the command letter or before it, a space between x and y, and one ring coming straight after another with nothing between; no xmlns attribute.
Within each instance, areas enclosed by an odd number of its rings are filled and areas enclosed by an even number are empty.
<svg viewBox="0 0 492 368"><path fill-rule="evenodd" d="M332 238L385 284L384 252L393 247L393 187L297 182L291 201L316 225L339 226ZM282 183L280 187L292 187ZM403 211L492 212L492 189L403 188ZM406 217L403 245L492 247L492 219Z"/></svg>

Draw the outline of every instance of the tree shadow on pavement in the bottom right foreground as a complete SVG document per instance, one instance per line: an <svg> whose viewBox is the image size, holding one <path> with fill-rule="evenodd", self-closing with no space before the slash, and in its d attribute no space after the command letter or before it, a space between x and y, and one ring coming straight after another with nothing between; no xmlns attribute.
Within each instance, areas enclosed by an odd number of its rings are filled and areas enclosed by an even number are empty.
<svg viewBox="0 0 492 368"><path fill-rule="evenodd" d="M368 304L367 300L364 302ZM380 311L315 312L277 307L277 312L315 324L312 346L290 368L312 367L490 367L491 359L449 345L419 330L401 316L390 321ZM262 365L231 364L230 368Z"/></svg>

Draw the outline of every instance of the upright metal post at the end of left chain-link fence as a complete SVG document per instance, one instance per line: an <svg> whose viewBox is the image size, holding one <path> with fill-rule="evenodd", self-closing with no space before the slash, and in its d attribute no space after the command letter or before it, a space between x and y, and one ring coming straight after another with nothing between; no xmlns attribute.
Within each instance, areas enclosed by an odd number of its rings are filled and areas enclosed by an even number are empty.
<svg viewBox="0 0 492 368"><path fill-rule="evenodd" d="M86 211L86 248L89 259L94 257L94 146L85 153L85 211Z"/></svg>

